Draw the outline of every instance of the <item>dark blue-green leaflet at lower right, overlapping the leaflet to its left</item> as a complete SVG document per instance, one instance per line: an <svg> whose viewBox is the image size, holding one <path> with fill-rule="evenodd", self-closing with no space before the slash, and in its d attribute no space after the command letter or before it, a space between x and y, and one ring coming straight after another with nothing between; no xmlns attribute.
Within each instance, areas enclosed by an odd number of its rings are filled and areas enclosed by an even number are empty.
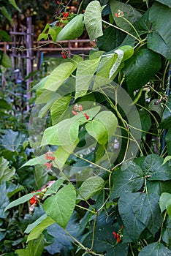
<svg viewBox="0 0 171 256"><path fill-rule="evenodd" d="M132 207L135 217L155 236L159 231L162 216L159 208L159 195L142 193L134 200Z"/></svg>

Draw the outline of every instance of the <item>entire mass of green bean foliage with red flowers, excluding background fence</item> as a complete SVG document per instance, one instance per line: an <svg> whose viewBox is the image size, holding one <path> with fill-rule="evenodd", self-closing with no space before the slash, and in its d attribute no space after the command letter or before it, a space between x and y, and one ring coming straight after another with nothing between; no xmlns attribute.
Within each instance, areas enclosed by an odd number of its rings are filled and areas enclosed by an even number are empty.
<svg viewBox="0 0 171 256"><path fill-rule="evenodd" d="M61 48L34 86L29 143L27 127L2 128L4 255L171 255L170 12L82 1L45 26L39 39L86 30L96 45L84 59Z"/></svg>

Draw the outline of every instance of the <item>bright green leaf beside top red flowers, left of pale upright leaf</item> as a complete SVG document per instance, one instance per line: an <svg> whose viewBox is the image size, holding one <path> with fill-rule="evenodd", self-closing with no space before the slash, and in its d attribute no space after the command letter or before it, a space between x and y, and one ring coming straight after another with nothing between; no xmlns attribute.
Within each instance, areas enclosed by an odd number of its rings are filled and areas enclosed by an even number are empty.
<svg viewBox="0 0 171 256"><path fill-rule="evenodd" d="M80 37L84 31L83 14L79 14L72 18L69 23L64 26L57 37L58 41L70 40Z"/></svg>

